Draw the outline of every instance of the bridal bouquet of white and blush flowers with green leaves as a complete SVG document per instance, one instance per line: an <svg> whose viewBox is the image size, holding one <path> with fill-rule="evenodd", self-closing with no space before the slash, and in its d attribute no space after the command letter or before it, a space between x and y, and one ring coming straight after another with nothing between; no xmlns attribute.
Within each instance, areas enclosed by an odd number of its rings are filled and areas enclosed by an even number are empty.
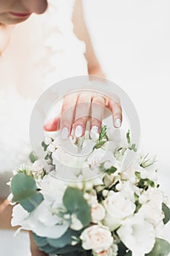
<svg viewBox="0 0 170 256"><path fill-rule="evenodd" d="M157 182L155 157L136 154L122 164L131 145L129 131L85 132L64 142L58 133L42 143L45 159L13 171L10 187L12 226L31 230L39 249L65 256L169 255L160 238L170 219L167 199Z"/></svg>

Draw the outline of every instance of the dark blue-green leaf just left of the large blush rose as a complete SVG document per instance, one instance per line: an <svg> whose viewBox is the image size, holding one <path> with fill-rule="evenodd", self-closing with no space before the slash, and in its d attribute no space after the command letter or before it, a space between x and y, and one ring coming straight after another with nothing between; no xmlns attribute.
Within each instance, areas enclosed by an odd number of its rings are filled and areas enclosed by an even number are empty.
<svg viewBox="0 0 170 256"><path fill-rule="evenodd" d="M66 233L64 233L63 236L61 236L60 238L58 239L47 238L47 242L48 244L50 244L50 246L53 246L59 249L66 245L72 244L72 241L75 241L75 239L72 238L73 236L76 237L77 240L79 240L80 232L68 229Z"/></svg>

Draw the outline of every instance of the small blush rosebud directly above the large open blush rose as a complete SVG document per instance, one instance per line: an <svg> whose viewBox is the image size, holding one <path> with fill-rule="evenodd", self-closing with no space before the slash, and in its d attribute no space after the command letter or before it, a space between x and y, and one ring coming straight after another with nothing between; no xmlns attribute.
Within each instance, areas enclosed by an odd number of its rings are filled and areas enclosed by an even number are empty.
<svg viewBox="0 0 170 256"><path fill-rule="evenodd" d="M105 217L105 209L100 203L91 206L91 218L93 223L99 223Z"/></svg>

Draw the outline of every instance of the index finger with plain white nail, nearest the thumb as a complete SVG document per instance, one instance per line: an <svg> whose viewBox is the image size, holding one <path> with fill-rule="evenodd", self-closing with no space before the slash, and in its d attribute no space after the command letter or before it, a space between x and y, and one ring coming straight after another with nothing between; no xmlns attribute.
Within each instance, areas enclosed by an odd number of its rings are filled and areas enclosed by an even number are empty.
<svg viewBox="0 0 170 256"><path fill-rule="evenodd" d="M68 94L63 98L61 109L61 137L66 139L72 132L74 120L74 109L77 103L78 94Z"/></svg>

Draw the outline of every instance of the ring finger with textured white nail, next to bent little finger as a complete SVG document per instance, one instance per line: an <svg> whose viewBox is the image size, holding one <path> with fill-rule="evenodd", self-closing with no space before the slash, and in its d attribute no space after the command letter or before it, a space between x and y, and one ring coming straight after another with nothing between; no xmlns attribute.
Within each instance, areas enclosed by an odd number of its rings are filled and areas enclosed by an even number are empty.
<svg viewBox="0 0 170 256"><path fill-rule="evenodd" d="M91 102L91 131L100 133L101 122L104 118L105 99L100 95L93 97Z"/></svg>

